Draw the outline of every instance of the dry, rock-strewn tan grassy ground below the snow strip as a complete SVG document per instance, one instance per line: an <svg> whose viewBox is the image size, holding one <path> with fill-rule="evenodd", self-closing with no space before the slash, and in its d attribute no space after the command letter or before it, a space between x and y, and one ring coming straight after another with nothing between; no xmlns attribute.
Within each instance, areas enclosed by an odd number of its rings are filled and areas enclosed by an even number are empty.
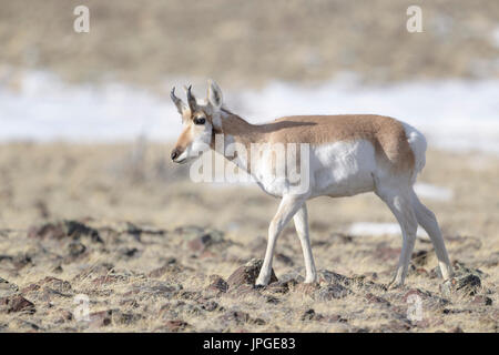
<svg viewBox="0 0 499 355"><path fill-rule="evenodd" d="M401 240L348 233L354 222L395 222L365 194L308 203L318 285L302 283L287 227L278 281L254 290L277 201L254 186L195 184L169 149L0 146L0 331L498 332L497 156L430 151L419 178L452 191L422 200L441 224L454 284L441 286L431 243L418 239L406 286L386 290ZM422 313L409 320L414 297ZM88 300L86 321L75 300Z"/></svg>

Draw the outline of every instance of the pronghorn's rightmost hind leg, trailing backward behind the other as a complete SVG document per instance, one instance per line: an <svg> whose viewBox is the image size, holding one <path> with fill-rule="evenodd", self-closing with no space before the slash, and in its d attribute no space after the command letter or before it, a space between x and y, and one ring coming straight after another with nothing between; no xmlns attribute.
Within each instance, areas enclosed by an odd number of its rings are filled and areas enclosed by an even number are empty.
<svg viewBox="0 0 499 355"><path fill-rule="evenodd" d="M452 277L452 266L450 265L449 255L447 254L446 245L444 243L437 219L435 217L435 214L419 201L414 191L411 193L411 199L416 219L426 231L426 233L428 233L429 237L431 239L431 243L434 244L441 275L444 280L448 280Z"/></svg>

